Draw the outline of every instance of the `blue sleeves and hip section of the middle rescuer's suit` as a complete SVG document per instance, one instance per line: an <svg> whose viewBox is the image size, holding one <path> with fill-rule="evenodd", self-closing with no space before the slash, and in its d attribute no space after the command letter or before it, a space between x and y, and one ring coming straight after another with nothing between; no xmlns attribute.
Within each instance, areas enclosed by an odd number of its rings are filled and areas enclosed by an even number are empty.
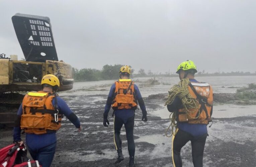
<svg viewBox="0 0 256 167"><path fill-rule="evenodd" d="M139 105L140 105L140 108L141 108L142 112L146 112L146 106L145 106L144 101L142 99L140 90L137 87L137 85L135 85L135 84L134 84L134 92L136 94L136 99L139 102ZM109 91L109 94L108 94L108 100L107 100L107 103L105 105L104 115L108 115L108 112L111 108L111 103L109 103L108 101L111 100L110 102L112 102L112 99L114 98L114 93L115 93L115 83L110 88L110 91ZM118 110L115 110L114 114L115 114L116 117L121 118L124 121L124 123L126 123L126 121L129 118L134 116L135 112L132 109L118 109Z"/></svg>

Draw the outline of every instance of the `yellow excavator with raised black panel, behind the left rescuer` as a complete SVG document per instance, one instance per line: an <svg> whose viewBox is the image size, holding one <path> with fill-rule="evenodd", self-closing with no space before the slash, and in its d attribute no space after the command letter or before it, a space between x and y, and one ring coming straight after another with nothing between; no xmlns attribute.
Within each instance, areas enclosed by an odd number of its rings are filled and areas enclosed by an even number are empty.
<svg viewBox="0 0 256 167"><path fill-rule="evenodd" d="M41 90L41 78L54 74L60 91L73 88L71 65L59 61L49 17L17 13L12 23L25 60L0 54L0 127L12 126L27 91Z"/></svg>

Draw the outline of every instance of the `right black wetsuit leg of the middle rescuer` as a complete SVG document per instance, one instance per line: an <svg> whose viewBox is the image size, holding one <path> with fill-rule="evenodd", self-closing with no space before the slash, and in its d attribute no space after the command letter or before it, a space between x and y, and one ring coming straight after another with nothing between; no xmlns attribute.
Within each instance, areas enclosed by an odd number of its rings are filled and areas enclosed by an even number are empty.
<svg viewBox="0 0 256 167"><path fill-rule="evenodd" d="M126 131L129 155L130 155L130 158L134 158L134 155L135 155L135 144L134 144L134 137L133 137L134 116L127 120L127 122L124 124L124 127Z"/></svg>

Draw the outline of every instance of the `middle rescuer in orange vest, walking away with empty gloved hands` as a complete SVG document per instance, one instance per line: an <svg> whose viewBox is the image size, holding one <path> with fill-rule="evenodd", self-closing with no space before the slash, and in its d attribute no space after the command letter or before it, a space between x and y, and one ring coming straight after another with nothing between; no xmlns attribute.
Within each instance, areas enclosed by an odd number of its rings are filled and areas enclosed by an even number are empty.
<svg viewBox="0 0 256 167"><path fill-rule="evenodd" d="M137 101L142 110L142 121L147 122L147 111L142 99L139 88L134 84L134 82L129 79L131 73L131 68L127 65L120 68L119 74L120 79L115 81L111 86L107 103L105 106L105 111L103 114L103 125L108 127L109 125L107 116L112 105L114 110L114 144L117 150L118 158L115 163L120 163L124 158L122 155L122 141L120 138L120 130L124 124L126 131L126 138L128 144L128 151L130 156L129 166L134 166L134 155L135 155L135 144L134 144L134 117L135 110L137 107Z"/></svg>

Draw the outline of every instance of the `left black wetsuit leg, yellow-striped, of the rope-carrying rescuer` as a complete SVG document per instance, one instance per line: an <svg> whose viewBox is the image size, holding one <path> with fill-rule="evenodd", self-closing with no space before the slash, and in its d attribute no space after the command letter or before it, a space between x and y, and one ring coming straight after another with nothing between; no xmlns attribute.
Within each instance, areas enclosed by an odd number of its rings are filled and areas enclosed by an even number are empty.
<svg viewBox="0 0 256 167"><path fill-rule="evenodd" d="M180 156L181 148L192 139L192 135L177 129L176 135L172 137L172 162L174 167L182 167Z"/></svg>

